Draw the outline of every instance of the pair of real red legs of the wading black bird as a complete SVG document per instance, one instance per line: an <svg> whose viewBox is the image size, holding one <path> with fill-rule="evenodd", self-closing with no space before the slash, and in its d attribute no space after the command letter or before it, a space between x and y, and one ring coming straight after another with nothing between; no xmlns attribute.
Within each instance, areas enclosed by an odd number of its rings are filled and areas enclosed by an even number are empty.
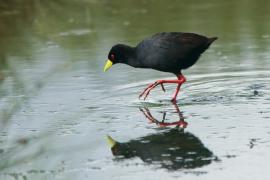
<svg viewBox="0 0 270 180"><path fill-rule="evenodd" d="M150 91L151 91L152 89L154 89L157 85L161 85L163 91L165 91L164 86L163 86L164 83L175 83L175 84L178 84L178 85L177 85L176 91L175 91L175 93L174 93L174 95L173 95L172 101L173 101L173 102L176 102L176 97L177 97L177 95L178 95L178 92L179 92L179 90L180 90L180 87L181 87L181 85L182 85L185 81L186 81L186 78L185 78L182 74L179 74L179 75L177 76L177 80L158 80L158 81L156 81L155 83L150 84L150 85L149 85L149 86L148 86L148 87L140 94L139 98L141 98L141 97L144 95L144 100L145 100L145 99L147 98L147 96L149 95Z"/></svg>

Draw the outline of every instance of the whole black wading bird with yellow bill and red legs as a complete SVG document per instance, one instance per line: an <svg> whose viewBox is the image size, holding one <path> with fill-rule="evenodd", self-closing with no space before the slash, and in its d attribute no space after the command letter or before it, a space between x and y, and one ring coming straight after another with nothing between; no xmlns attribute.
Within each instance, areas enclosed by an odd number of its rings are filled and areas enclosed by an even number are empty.
<svg viewBox="0 0 270 180"><path fill-rule="evenodd" d="M157 85L165 91L164 83L178 84L172 101L176 102L180 86L186 81L181 73L199 59L200 55L217 39L207 38L194 33L162 32L157 33L140 42L136 47L125 44L114 45L104 66L104 72L113 64L124 63L135 68L151 68L158 71L170 72L177 76L177 80L157 80L150 84L139 97L148 96Z"/></svg>

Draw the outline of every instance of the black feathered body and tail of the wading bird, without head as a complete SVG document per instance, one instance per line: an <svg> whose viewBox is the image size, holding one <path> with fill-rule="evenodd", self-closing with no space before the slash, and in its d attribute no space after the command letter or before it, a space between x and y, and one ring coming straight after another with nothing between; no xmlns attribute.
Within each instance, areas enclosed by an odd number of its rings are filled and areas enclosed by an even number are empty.
<svg viewBox="0 0 270 180"><path fill-rule="evenodd" d="M158 33L137 45L137 59L141 67L177 74L192 66L216 39L194 33Z"/></svg>

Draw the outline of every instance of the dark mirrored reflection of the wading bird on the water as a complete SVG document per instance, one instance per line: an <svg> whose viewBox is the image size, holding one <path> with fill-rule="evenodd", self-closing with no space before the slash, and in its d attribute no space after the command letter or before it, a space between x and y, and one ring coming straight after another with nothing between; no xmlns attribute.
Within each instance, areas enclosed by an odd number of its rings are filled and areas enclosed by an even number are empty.
<svg viewBox="0 0 270 180"><path fill-rule="evenodd" d="M155 119L148 108L141 111L147 119L153 120L159 126L176 125L176 127L166 128L159 133L125 143L117 142L108 136L111 151L118 159L139 157L144 162L169 170L197 168L217 160L217 157L204 146L198 137L184 132L184 128L179 128L186 124L183 123L185 121L182 114L180 115L181 123L164 124L162 120Z"/></svg>

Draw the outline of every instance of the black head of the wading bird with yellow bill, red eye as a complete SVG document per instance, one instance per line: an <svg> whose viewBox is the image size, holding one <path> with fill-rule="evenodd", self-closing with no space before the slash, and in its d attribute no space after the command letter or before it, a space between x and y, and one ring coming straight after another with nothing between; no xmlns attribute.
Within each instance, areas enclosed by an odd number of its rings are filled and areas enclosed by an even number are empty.
<svg viewBox="0 0 270 180"><path fill-rule="evenodd" d="M104 72L110 69L114 64L128 64L128 60L133 55L133 51L132 47L124 44L114 45L108 54L108 60L104 66Z"/></svg>

